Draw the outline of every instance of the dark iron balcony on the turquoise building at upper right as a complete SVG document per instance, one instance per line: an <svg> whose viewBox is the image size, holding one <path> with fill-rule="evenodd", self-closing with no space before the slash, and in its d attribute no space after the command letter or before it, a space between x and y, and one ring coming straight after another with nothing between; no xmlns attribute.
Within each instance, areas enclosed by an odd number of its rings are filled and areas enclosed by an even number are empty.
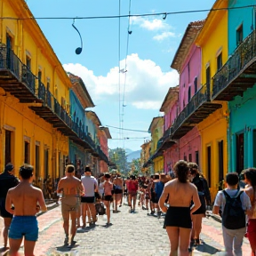
<svg viewBox="0 0 256 256"><path fill-rule="evenodd" d="M247 36L212 78L212 100L233 100L256 83L256 31Z"/></svg>

